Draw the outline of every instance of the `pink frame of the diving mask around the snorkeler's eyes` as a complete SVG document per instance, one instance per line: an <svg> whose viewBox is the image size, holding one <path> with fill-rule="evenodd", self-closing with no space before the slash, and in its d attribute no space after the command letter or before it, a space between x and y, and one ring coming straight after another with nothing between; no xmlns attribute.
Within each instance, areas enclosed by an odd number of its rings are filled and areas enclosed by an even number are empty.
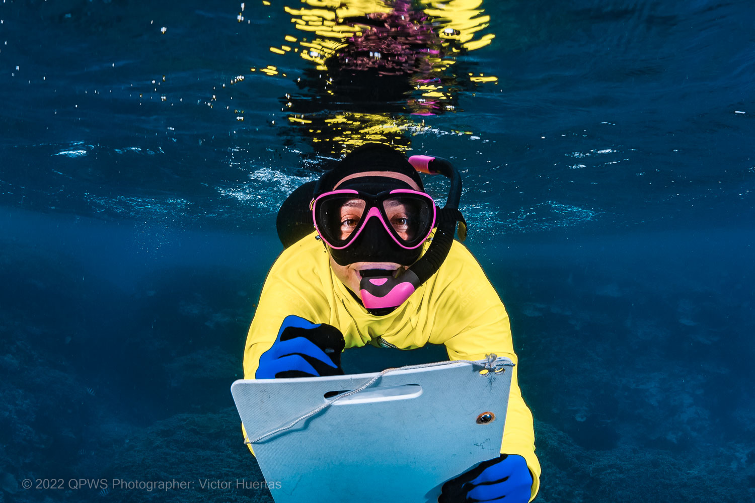
<svg viewBox="0 0 755 503"><path fill-rule="evenodd" d="M433 208L433 219L432 222L427 229L427 233L425 233L424 237L421 238L417 244L414 246L408 247L406 246L405 242L402 242L403 240L396 234L396 230L393 229L391 225L388 225L388 222L386 221L387 215L384 214L384 210L381 210L382 204L381 202L384 199L390 198L391 195L400 195L400 194L411 194L416 195L420 198L426 198L427 201L430 203L430 207ZM322 200L322 198L327 198L332 195L356 195L357 198L362 199L367 204L365 206L365 210L367 210L367 214L362 216L361 219L359 219L358 228L356 229L356 232L352 232L351 235L344 241L344 244L341 246L335 246L333 243L328 241L325 235L322 234L322 231L319 228L319 225L317 225L317 207L319 201ZM324 194L321 194L317 196L317 198L313 199L310 203L310 210L312 210L312 220L315 224L315 229L317 231L317 234L320 235L320 238L322 238L322 241L325 241L325 244L327 244L329 247L333 248L334 250L343 250L344 248L350 247L351 244L356 240L356 238L359 237L359 235L362 233L362 230L367 225L367 222L372 217L376 217L380 222L383 224L383 227L385 228L388 235L390 235L391 238L393 238L393 241L396 241L396 244L399 245L399 247L404 248L405 250L414 250L418 247L421 247L422 244L424 244L425 241L427 241L427 238L430 237L430 234L433 232L433 228L435 227L436 223L436 206L435 201L432 197L430 197L427 192L420 192L417 190L411 190L411 189L394 189L390 192L381 192L381 194L378 194L377 196L367 194L366 192L359 192L353 189L337 189L331 192L325 192ZM414 240L412 240L414 241Z"/></svg>

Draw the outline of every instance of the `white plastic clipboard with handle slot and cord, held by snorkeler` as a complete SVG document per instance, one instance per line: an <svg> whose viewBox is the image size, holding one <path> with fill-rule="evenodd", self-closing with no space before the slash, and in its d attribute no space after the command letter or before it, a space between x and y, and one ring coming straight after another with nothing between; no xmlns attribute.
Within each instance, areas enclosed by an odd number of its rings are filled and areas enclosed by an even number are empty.
<svg viewBox="0 0 755 503"><path fill-rule="evenodd" d="M438 501L445 481L501 450L513 363L484 364L390 371L254 443L276 503ZM253 440L375 376L239 379L231 393Z"/></svg>

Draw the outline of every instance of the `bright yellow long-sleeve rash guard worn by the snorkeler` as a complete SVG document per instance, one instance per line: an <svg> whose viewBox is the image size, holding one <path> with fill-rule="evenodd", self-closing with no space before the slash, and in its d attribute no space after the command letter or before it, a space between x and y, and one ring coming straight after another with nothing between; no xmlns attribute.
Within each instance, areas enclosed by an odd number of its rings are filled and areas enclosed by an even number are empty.
<svg viewBox="0 0 755 503"><path fill-rule="evenodd" d="M288 247L267 275L249 327L245 379L254 379L260 355L273 345L289 314L337 327L347 349L379 345L382 338L400 349L444 344L451 360L482 360L485 354L495 353L517 363L506 309L472 254L457 241L438 272L385 316L369 314L351 296L331 270L328 253L314 233ZM521 455L527 461L535 498L540 463L532 413L522 400L517 368L511 378L501 452Z"/></svg>

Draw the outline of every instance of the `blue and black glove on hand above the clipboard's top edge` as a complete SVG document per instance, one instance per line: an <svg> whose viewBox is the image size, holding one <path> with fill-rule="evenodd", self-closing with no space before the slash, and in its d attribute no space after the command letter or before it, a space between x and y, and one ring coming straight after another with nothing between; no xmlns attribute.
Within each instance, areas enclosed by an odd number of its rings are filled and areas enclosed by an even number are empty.
<svg viewBox="0 0 755 503"><path fill-rule="evenodd" d="M281 377L341 376L341 330L328 324L313 324L303 317L287 316L276 342L260 356L256 379Z"/></svg>

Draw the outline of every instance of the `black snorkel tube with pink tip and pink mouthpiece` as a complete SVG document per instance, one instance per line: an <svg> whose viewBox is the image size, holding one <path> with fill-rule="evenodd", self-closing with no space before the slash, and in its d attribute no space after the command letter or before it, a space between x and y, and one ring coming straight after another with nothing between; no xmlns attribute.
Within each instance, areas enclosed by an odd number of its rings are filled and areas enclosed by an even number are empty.
<svg viewBox="0 0 755 503"><path fill-rule="evenodd" d="M429 155L412 155L409 163L420 173L442 174L451 182L448 199L437 208L436 231L424 255L408 269L393 275L370 275L359 282L362 304L370 314L388 314L399 307L421 284L434 275L448 256L454 241L456 222L459 222L459 240L467 238L467 222L458 209L461 199L461 176L449 161Z"/></svg>

